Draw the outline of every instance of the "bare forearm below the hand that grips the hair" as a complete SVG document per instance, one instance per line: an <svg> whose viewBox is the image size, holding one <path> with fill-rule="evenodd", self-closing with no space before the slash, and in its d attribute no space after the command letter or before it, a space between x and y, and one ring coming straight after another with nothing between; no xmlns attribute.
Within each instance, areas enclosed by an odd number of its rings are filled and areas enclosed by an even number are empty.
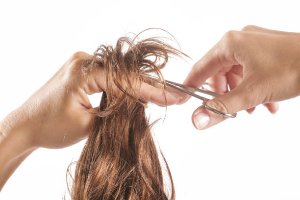
<svg viewBox="0 0 300 200"><path fill-rule="evenodd" d="M20 110L0 122L0 190L25 158L36 148L31 146L30 127Z"/></svg>

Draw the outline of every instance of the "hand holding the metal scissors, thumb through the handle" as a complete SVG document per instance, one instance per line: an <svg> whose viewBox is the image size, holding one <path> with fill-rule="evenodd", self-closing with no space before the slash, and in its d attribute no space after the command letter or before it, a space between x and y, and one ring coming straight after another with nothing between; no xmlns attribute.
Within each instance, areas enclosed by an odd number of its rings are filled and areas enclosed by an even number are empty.
<svg viewBox="0 0 300 200"><path fill-rule="evenodd" d="M229 31L193 66L183 84L200 87L206 79L211 90L224 94L207 105L234 114L240 110L252 113L263 103L274 114L276 101L300 95L300 33L253 25ZM178 104L188 99L185 96ZM225 119L203 106L192 114L197 129Z"/></svg>

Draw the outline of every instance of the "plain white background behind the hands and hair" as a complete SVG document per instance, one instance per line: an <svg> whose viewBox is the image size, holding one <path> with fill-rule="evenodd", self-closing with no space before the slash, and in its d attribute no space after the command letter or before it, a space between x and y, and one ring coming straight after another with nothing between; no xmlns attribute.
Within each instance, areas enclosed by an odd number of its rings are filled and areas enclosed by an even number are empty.
<svg viewBox="0 0 300 200"><path fill-rule="evenodd" d="M182 82L226 31L245 25L300 32L298 1L1 1L0 119L75 51L93 53L127 32L164 28L192 57L172 61L164 70L167 79ZM100 94L91 98L93 105L99 100ZM260 105L252 115L242 111L202 131L191 122L199 100L168 107L153 133L171 168L176 199L300 199L299 102L280 102L276 115ZM165 109L150 105L148 113L164 117ZM62 199L67 167L83 145L34 151L7 181L0 199Z"/></svg>

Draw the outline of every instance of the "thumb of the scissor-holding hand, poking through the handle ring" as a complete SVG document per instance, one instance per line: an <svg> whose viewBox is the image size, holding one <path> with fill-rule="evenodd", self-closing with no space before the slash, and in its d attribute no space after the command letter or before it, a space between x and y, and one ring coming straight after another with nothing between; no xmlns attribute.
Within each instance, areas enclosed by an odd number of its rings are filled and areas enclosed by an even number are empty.
<svg viewBox="0 0 300 200"><path fill-rule="evenodd" d="M234 114L240 110L246 110L259 104L257 97L259 95L257 95L255 87L251 86L247 81L242 81L239 86L230 92L209 100L206 104L224 113ZM219 124L225 119L227 117L216 114L206 109L203 105L198 107L192 114L192 122L199 130Z"/></svg>

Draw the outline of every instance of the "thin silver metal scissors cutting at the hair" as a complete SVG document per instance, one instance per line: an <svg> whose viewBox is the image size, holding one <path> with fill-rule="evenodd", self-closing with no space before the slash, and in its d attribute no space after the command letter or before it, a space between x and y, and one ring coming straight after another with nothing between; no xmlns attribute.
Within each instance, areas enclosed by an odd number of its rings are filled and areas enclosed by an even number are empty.
<svg viewBox="0 0 300 200"><path fill-rule="evenodd" d="M154 81L156 81L158 83L161 83L160 80L158 78L154 77L154 76L145 75L145 74L143 76L145 76L147 78L150 78L151 80L154 80ZM207 99L205 97L197 95L197 94L195 94L195 93L193 93L191 91L200 92L200 93L203 93L203 94L206 94L206 95L210 95L210 96L213 96L213 97L219 97L220 94L218 94L218 93L214 93L212 91L209 91L209 90L205 89L203 86L201 86L202 89L200 89L200 88L191 87L191 86L183 85L183 84L180 84L180 83L176 83L176 82L173 82L173 81L170 81L170 80L165 80L165 82L166 82L166 85L169 86L169 87L172 87L172 88L174 88L176 90L179 90L180 92L183 92L183 93L188 94L188 95L190 95L192 97L196 97L196 98L202 100L203 101L202 105L206 109L208 109L208 110L210 110L210 111L212 111L214 113L217 113L217 114L222 115L222 116L227 117L227 118L235 118L236 117L236 113L235 114L228 114L228 113L225 113L225 112L222 112L220 110L217 110L217 109L214 109L214 108L210 107L209 105L206 104L207 101L210 100L210 99ZM204 83L204 84L207 84L207 83ZM186 88L188 90L185 90L183 88Z"/></svg>

